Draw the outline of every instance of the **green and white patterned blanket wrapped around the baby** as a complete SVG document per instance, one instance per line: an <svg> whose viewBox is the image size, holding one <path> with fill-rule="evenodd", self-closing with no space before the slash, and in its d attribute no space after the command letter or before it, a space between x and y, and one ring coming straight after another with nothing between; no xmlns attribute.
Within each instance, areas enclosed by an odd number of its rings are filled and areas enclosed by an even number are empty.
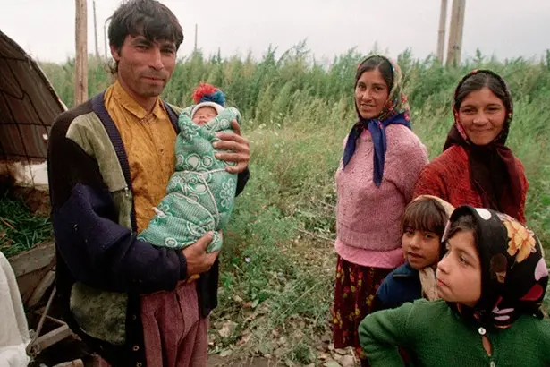
<svg viewBox="0 0 550 367"><path fill-rule="evenodd" d="M241 124L241 113L225 108L215 118L199 126L190 118L191 107L179 116L180 133L175 143L175 172L170 177L166 196L155 208L155 216L139 239L157 246L181 249L196 243L208 231L214 239L207 252L220 250L224 229L233 211L237 175L225 171L224 162L216 159L212 142L216 132L233 132L231 122Z"/></svg>

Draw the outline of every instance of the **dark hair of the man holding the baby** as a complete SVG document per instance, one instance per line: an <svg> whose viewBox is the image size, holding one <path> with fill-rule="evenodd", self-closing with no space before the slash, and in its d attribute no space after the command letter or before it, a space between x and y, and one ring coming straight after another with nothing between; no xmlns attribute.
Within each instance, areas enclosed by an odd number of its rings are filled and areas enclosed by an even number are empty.
<svg viewBox="0 0 550 367"><path fill-rule="evenodd" d="M143 36L149 41L168 40L176 51L183 42L183 30L176 16L157 0L130 0L121 4L109 18L109 45L120 53L128 35ZM111 72L118 71L118 63Z"/></svg>

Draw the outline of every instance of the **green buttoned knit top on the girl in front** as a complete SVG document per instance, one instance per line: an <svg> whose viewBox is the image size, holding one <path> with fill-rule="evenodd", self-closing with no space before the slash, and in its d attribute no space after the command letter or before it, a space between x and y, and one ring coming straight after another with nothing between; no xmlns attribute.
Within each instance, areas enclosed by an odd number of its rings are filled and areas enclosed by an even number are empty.
<svg viewBox="0 0 550 367"><path fill-rule="evenodd" d="M521 316L509 329L488 331L492 356L478 327L444 301L418 300L369 314L359 327L360 345L372 366L402 366L397 346L415 366L550 366L550 320Z"/></svg>

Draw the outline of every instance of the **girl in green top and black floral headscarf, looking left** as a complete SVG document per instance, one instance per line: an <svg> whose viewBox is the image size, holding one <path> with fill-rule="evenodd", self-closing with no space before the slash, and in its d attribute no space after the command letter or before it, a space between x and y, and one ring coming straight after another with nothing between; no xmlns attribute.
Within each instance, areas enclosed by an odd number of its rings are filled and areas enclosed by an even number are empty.
<svg viewBox="0 0 550 367"><path fill-rule="evenodd" d="M548 366L550 320L541 304L548 269L537 237L491 209L461 206L445 229L437 265L442 300L369 315L360 342L374 366Z"/></svg>

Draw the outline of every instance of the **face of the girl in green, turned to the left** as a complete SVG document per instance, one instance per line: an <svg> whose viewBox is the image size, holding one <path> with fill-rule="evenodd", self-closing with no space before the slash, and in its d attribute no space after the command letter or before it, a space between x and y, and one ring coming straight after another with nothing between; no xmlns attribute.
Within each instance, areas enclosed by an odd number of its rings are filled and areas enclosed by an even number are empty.
<svg viewBox="0 0 550 367"><path fill-rule="evenodd" d="M437 264L437 294L447 302L474 307L481 298L481 264L473 231L457 232L446 248Z"/></svg>

